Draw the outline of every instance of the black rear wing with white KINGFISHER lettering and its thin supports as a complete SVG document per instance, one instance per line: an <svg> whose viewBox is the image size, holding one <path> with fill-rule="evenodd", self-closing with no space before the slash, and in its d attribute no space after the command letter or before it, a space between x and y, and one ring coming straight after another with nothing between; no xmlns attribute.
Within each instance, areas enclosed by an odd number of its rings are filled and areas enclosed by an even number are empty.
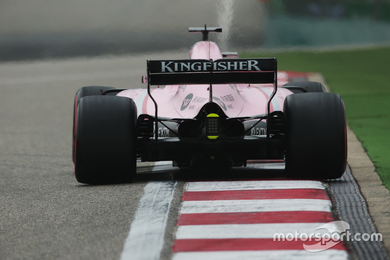
<svg viewBox="0 0 390 260"><path fill-rule="evenodd" d="M266 84L273 83L273 93L267 103L267 117L271 100L277 90L276 58L220 59L220 60L147 60L148 95L156 108L150 86L156 85L210 85L210 100L213 100L213 84Z"/></svg>

